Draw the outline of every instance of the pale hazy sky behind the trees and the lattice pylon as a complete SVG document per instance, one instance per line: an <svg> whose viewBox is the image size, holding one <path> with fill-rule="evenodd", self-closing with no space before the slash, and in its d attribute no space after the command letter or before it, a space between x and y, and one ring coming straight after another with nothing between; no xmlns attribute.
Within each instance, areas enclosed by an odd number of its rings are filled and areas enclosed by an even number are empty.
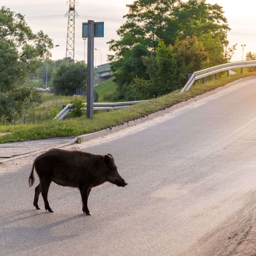
<svg viewBox="0 0 256 256"><path fill-rule="evenodd" d="M88 20L104 22L104 37L95 38L94 46L99 51L94 52L94 65L107 62L109 51L106 42L118 39L116 30L125 22L123 16L128 12L126 4L133 0L78 0L75 10L75 60L84 59L84 41L82 39L82 23ZM218 4L223 7L231 31L228 32L230 46L237 45L237 51L231 61L242 60L247 52L256 52L256 1L243 0L206 0L209 4ZM0 6L6 6L14 12L25 15L27 24L34 33L42 30L53 39L57 48L52 49L52 59L66 56L68 16L68 0L0 0ZM87 60L87 44L85 48ZM102 56L102 58L101 58ZM101 60L102 59L102 60Z"/></svg>

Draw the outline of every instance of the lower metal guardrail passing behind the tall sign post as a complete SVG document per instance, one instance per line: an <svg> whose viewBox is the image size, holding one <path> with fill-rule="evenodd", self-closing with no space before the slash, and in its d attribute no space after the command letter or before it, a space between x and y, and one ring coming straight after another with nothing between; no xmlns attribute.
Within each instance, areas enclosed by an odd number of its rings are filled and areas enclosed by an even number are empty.
<svg viewBox="0 0 256 256"><path fill-rule="evenodd" d="M139 101L127 101L127 102L116 102L116 103L93 103L93 110L118 110L128 108L129 106L137 103L146 102L148 100L139 100ZM74 104L68 104L62 109L57 116L54 117L54 120L63 119L70 111L73 110ZM84 103L84 108L87 107L87 103Z"/></svg>

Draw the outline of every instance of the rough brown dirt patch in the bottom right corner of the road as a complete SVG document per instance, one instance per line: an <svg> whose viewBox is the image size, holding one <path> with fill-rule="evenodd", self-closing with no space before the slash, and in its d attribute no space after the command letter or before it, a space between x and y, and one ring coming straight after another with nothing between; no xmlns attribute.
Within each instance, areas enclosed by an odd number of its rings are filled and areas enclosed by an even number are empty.
<svg viewBox="0 0 256 256"><path fill-rule="evenodd" d="M182 255L255 256L256 191L245 207L230 216L215 230L202 237Z"/></svg>

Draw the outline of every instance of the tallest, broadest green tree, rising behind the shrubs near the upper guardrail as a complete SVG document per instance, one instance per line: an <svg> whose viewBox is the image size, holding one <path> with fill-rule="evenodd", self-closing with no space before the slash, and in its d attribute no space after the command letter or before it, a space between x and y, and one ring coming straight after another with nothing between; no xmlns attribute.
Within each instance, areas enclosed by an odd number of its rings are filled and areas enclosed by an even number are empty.
<svg viewBox="0 0 256 256"><path fill-rule="evenodd" d="M230 56L225 51L226 32L230 29L222 7L217 4L206 4L205 0L136 0L127 7L126 22L117 30L120 39L108 42L110 50L115 52L109 60L114 62L112 68L121 92L127 92L123 88L131 86L134 70L142 71L136 74L141 79L148 74L141 61L137 66L131 61L131 53L138 46L145 50L140 58L156 56L160 40L166 46L174 46L187 36L195 35L209 53L209 65L224 63L228 59L226 56Z"/></svg>

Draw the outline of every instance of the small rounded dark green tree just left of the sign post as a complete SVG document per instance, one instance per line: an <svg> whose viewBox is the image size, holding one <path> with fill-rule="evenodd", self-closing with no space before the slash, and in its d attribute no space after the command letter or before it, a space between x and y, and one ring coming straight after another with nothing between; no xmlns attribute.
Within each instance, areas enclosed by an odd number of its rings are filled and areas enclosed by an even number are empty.
<svg viewBox="0 0 256 256"><path fill-rule="evenodd" d="M53 78L56 95L73 95L76 88L86 88L87 65L83 61L61 62Z"/></svg>

